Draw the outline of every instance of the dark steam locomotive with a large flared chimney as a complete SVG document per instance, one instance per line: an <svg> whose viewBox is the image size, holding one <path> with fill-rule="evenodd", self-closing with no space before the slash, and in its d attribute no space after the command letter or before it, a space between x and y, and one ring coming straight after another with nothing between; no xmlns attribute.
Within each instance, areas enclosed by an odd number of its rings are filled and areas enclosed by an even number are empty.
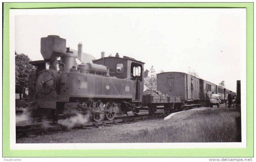
<svg viewBox="0 0 256 162"><path fill-rule="evenodd" d="M41 54L44 61L31 62L37 70L29 76L26 96L36 110L34 117L57 120L83 114L99 122L128 111L139 113L144 62L117 54L77 65L66 39L57 35L41 38Z"/></svg>

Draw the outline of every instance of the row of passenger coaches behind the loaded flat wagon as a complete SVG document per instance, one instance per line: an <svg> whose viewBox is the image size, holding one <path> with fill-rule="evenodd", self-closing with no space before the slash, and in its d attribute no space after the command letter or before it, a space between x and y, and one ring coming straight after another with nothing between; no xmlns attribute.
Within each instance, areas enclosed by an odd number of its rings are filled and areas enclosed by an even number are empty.
<svg viewBox="0 0 256 162"><path fill-rule="evenodd" d="M223 103L229 92L235 92L213 84L201 78L181 72L165 72L157 74L157 90L170 96L181 96L185 105L205 105L206 93L221 96Z"/></svg>

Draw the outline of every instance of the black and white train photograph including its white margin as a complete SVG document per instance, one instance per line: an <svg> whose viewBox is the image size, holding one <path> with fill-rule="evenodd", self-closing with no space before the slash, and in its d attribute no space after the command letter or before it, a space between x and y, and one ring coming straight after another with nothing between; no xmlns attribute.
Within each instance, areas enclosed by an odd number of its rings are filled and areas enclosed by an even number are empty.
<svg viewBox="0 0 256 162"><path fill-rule="evenodd" d="M10 13L11 148L246 147L245 8Z"/></svg>

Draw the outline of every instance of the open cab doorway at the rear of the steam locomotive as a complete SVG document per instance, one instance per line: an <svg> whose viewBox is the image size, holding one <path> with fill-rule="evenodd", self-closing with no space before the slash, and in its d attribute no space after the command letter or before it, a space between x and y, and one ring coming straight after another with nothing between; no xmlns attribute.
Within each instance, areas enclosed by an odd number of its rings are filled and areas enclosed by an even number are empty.
<svg viewBox="0 0 256 162"><path fill-rule="evenodd" d="M131 63L131 80L136 81L135 100L140 100L140 81L142 81L142 65Z"/></svg>

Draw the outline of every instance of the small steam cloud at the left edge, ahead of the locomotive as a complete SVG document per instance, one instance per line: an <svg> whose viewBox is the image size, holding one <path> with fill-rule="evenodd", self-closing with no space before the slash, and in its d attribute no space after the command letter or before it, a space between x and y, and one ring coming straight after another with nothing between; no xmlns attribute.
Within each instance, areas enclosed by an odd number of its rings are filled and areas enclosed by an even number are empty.
<svg viewBox="0 0 256 162"><path fill-rule="evenodd" d="M30 111L28 108L22 108L23 111L21 114L16 114L16 126L18 125L29 125L33 123L33 119L30 116Z"/></svg>

